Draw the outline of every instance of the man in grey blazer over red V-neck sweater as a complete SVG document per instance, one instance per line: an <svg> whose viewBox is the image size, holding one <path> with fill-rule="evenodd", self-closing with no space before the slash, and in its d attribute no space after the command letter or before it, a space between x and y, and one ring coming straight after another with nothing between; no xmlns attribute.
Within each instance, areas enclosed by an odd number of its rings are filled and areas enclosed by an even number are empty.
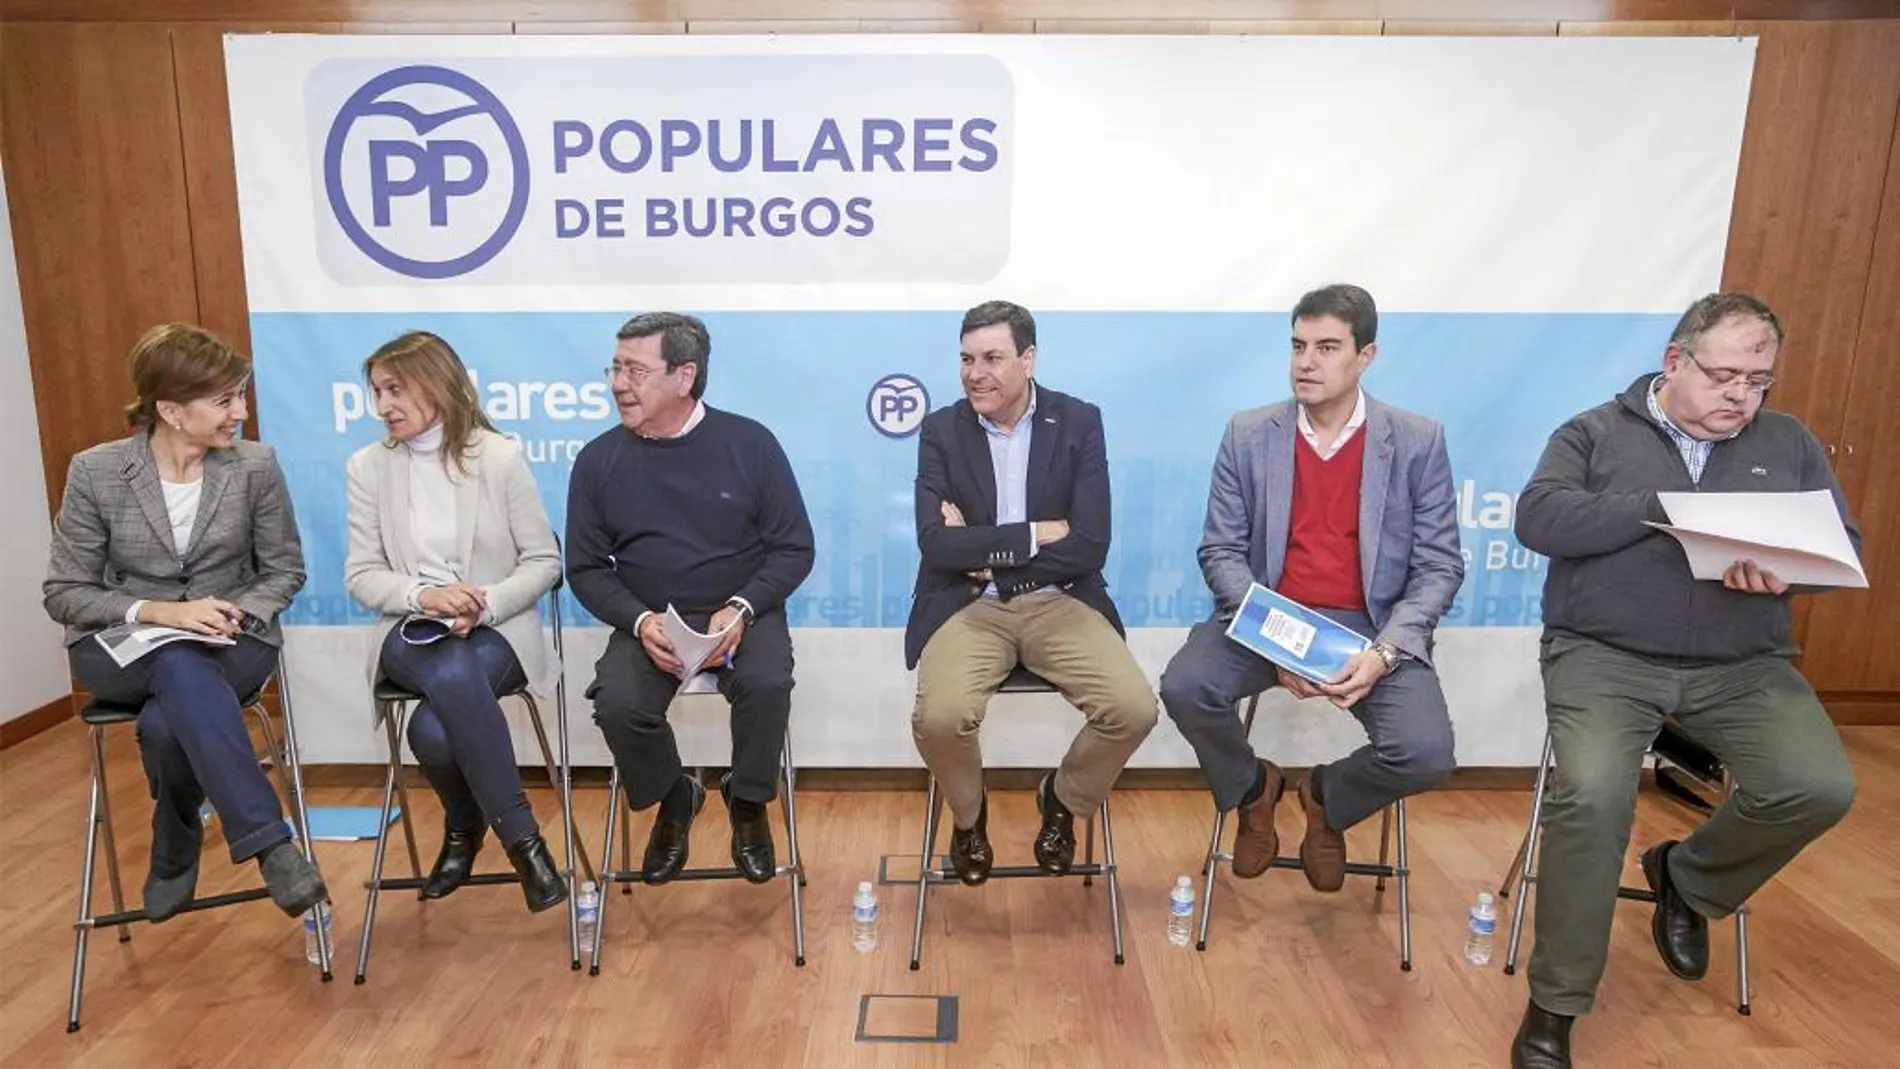
<svg viewBox="0 0 1900 1069"><path fill-rule="evenodd" d="M1275 684L1349 710L1370 742L1300 784L1300 862L1317 891L1345 883L1345 830L1452 773L1452 720L1433 670L1433 628L1465 579L1444 429L1364 395L1378 353L1372 294L1332 285L1292 313L1294 397L1241 412L1214 459L1201 572L1214 617L1195 625L1161 676L1161 704L1195 748L1220 809L1239 809L1233 873L1279 853L1281 769L1256 758L1235 704ZM1372 636L1326 685L1277 668L1226 636L1262 583Z"/></svg>

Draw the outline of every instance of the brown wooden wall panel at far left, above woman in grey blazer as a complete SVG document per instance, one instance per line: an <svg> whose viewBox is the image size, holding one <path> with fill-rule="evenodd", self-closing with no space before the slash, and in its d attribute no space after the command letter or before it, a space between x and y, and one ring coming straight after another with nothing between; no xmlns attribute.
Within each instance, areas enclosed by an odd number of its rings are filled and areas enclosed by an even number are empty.
<svg viewBox="0 0 1900 1069"><path fill-rule="evenodd" d="M0 133L57 509L72 454L125 433L133 340L198 319L165 27L0 28Z"/></svg>

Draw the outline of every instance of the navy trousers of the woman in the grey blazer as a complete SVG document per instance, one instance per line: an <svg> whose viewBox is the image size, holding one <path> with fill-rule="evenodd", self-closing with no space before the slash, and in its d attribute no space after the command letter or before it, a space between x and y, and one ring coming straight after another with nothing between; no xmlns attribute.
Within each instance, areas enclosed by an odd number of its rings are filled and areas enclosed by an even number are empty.
<svg viewBox="0 0 1900 1069"><path fill-rule="evenodd" d="M218 811L232 862L291 837L283 805L256 763L239 701L255 695L277 647L249 634L236 646L173 642L120 668L91 638L68 651L72 670L97 699L141 704L139 758L152 784L152 875L198 864L205 796Z"/></svg>

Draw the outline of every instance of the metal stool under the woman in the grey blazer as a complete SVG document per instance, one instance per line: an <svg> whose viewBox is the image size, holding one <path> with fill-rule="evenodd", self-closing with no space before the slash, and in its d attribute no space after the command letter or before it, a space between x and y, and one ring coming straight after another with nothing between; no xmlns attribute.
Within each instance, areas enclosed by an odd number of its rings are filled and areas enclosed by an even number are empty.
<svg viewBox="0 0 1900 1069"><path fill-rule="evenodd" d="M260 687L255 695L247 695L239 708L249 712L256 720L258 731L264 737L266 754L258 760L268 763L277 773L277 786L283 790L285 801L289 803L291 828L294 832L294 841L302 847L304 856L310 864L317 864L317 853L310 841L310 813L304 809L304 767L296 752L296 720L291 716L291 685L281 670L276 672L277 678L277 701L283 706L283 741L279 744L277 733L272 729L270 712L264 708ZM268 685L268 682L266 682ZM80 720L87 727L93 750L93 784L91 801L86 815L86 860L80 866L80 917L72 923L74 944L72 944L72 999L66 1004L66 1033L80 1031L80 999L86 993L86 940L93 928L118 928L120 942L131 940L129 925L144 921L144 908L125 910L125 894L120 887L118 872L118 837L112 834L112 797L106 786L106 729L114 723L133 723L139 720L139 704L122 704L93 699L86 708L80 710ZM99 854L99 830L104 828L106 839L106 883L112 889L112 911L93 915L93 872ZM319 870L321 873L321 870ZM217 910L220 906L236 906L239 902L256 902L260 898L270 898L270 891L262 887L253 887L251 891L236 891L230 894L211 894L205 898L192 898L186 902L179 913L196 913L200 910ZM327 984L332 976L331 972L331 940L325 925L325 913L329 913L331 904L319 902L317 913L317 968Z"/></svg>

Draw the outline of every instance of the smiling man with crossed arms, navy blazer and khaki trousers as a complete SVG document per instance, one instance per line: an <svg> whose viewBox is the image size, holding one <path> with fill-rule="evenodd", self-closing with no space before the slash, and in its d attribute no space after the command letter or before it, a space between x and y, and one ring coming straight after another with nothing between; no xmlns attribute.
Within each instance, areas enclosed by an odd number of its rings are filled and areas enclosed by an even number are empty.
<svg viewBox="0 0 1900 1069"><path fill-rule="evenodd" d="M1036 384L1036 319L1003 300L961 323L963 401L918 435L916 600L904 659L918 670L910 731L956 822L950 866L990 877L990 805L977 733L990 695L1022 665L1087 718L1036 792L1036 864L1075 862L1089 815L1155 725L1155 691L1108 600L1108 450L1102 412Z"/></svg>

